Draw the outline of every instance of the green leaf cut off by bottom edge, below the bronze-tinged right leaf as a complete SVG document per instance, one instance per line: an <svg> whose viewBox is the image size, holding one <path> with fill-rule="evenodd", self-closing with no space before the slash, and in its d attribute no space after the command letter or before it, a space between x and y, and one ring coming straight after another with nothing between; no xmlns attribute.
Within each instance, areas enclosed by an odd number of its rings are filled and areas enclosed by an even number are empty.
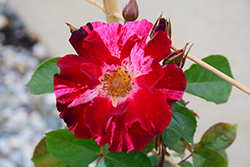
<svg viewBox="0 0 250 167"><path fill-rule="evenodd" d="M193 154L195 167L227 167L227 161L222 155L208 148L195 147Z"/></svg>

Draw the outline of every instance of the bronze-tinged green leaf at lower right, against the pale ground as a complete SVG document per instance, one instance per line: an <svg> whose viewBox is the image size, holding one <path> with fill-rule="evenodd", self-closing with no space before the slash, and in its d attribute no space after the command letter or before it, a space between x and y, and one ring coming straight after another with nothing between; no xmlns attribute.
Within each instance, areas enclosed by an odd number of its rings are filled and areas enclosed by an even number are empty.
<svg viewBox="0 0 250 167"><path fill-rule="evenodd" d="M215 124L204 133L199 145L216 151L224 150L233 143L236 132L237 124Z"/></svg>

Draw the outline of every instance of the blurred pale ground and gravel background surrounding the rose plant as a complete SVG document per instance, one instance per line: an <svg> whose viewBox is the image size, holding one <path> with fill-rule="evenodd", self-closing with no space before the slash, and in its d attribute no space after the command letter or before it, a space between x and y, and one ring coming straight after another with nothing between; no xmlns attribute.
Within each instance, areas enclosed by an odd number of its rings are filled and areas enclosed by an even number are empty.
<svg viewBox="0 0 250 167"><path fill-rule="evenodd" d="M118 0L120 12L127 2ZM138 4L139 20L155 22L163 11L171 18L175 45L194 43L191 54L200 59L226 56L234 78L250 87L249 0L138 0ZM65 22L79 27L90 21L105 22L105 15L85 0L0 0L0 167L34 166L30 159L44 133L64 126L54 95L32 95L25 84L42 61L75 53ZM191 64L187 60L185 69ZM229 166L248 166L250 96L233 87L225 104L189 94L184 100L200 116L195 142L215 123L238 124L237 138L227 149Z"/></svg>

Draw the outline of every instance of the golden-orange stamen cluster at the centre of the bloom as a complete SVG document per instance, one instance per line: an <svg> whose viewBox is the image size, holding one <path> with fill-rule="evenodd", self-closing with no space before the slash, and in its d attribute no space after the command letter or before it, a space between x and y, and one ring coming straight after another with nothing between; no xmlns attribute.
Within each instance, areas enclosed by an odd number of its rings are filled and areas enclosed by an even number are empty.
<svg viewBox="0 0 250 167"><path fill-rule="evenodd" d="M126 97L132 90L131 76L123 67L113 71L107 70L104 76L100 77L100 81L102 89L107 93L106 97L111 96L112 99Z"/></svg>

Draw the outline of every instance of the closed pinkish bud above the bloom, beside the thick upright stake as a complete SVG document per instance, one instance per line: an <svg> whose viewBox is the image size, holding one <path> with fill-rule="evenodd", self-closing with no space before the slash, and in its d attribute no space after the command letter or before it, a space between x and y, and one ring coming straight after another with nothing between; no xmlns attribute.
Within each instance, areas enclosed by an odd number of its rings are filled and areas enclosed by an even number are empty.
<svg viewBox="0 0 250 167"><path fill-rule="evenodd" d="M139 9L136 0L130 0L122 11L125 21L135 21L139 16Z"/></svg>

